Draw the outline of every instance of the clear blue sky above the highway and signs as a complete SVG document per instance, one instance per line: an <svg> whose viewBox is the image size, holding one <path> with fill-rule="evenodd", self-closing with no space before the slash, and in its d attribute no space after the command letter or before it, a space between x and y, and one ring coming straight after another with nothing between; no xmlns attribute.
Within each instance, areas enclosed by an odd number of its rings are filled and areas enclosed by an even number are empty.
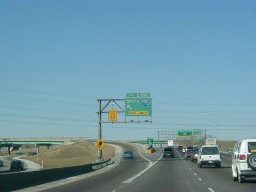
<svg viewBox="0 0 256 192"><path fill-rule="evenodd" d="M151 93L161 130L255 137L255 1L0 2L0 137L97 138L97 98ZM123 103L121 103L123 105ZM106 117L103 117L103 119ZM119 114L123 120L123 114Z"/></svg>

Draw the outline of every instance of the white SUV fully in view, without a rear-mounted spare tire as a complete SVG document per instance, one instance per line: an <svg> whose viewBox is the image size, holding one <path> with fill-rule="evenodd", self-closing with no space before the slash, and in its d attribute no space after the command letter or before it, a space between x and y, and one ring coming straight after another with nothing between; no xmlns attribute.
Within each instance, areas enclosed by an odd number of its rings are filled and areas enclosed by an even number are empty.
<svg viewBox="0 0 256 192"><path fill-rule="evenodd" d="M217 145L203 145L198 152L197 164L199 168L202 168L203 165L215 165L216 168L220 168L219 147Z"/></svg>

